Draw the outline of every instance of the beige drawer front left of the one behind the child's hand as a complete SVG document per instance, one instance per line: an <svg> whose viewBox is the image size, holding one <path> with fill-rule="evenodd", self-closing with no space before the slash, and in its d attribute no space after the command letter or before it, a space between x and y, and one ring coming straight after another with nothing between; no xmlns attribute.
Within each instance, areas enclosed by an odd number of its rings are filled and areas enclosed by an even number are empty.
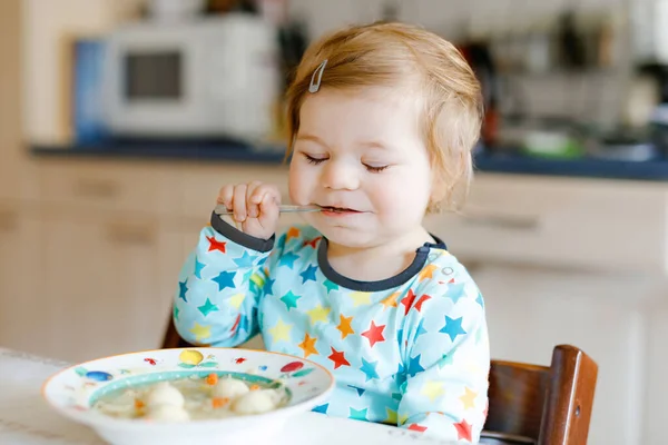
<svg viewBox="0 0 668 445"><path fill-rule="evenodd" d="M174 166L42 160L39 170L41 198L47 205L163 215L180 210L180 172Z"/></svg>

